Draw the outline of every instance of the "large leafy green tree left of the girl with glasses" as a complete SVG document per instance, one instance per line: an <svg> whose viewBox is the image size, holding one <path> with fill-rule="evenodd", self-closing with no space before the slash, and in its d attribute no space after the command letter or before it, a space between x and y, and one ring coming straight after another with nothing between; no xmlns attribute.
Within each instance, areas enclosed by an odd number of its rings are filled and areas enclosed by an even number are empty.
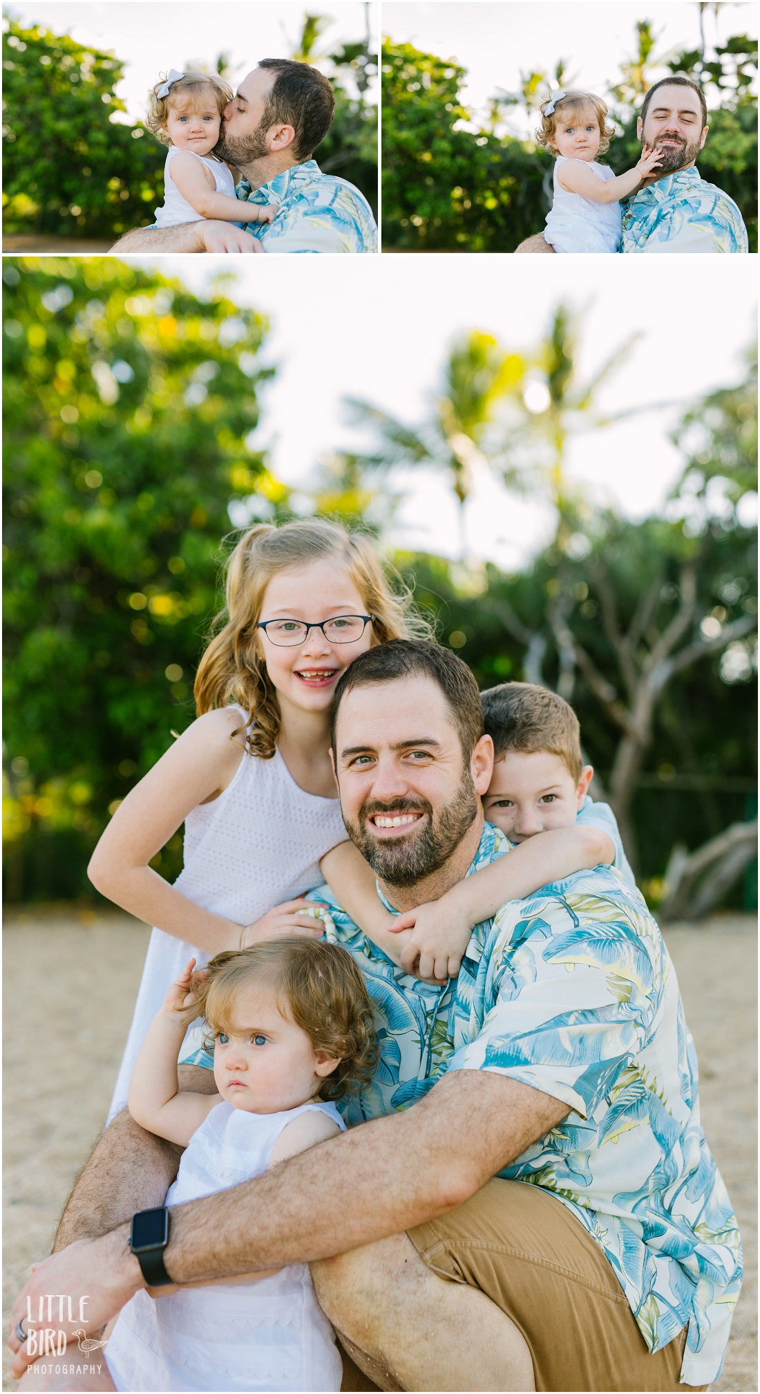
<svg viewBox="0 0 760 1394"><path fill-rule="evenodd" d="M117 259L3 277L11 894L75 894L188 719L228 503L284 493L256 449L267 326Z"/></svg>

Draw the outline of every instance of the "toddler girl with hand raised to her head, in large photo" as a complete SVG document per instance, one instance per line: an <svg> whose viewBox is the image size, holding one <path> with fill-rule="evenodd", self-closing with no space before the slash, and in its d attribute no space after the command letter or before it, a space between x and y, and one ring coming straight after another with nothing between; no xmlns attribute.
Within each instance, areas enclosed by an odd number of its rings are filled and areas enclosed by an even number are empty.
<svg viewBox="0 0 760 1394"><path fill-rule="evenodd" d="M273 940L192 969L191 959L170 987L129 1085L132 1117L187 1149L167 1206L251 1181L341 1132L334 1100L369 1083L377 1061L362 973L338 945ZM177 1054L198 1018L216 1094L178 1093ZM114 1326L104 1354L117 1390L341 1387L306 1263L164 1292L138 1292Z"/></svg>

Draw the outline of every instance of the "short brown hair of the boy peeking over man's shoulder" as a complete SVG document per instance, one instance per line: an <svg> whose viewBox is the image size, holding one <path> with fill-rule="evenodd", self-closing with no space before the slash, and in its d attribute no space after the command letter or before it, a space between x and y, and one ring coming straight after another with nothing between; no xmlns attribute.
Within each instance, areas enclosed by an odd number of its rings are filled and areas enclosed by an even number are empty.
<svg viewBox="0 0 760 1394"><path fill-rule="evenodd" d="M580 779L580 725L562 697L537 683L500 683L480 693L480 700L483 726L497 760L508 750L525 754L546 750L562 761L576 782Z"/></svg>

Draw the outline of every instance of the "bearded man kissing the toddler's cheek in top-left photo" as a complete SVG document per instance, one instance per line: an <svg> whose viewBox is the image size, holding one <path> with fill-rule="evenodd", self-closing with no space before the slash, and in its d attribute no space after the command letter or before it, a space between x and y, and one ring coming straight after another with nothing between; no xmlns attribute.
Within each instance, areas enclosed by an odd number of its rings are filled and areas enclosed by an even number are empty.
<svg viewBox="0 0 760 1394"><path fill-rule="evenodd" d="M312 158L335 110L333 88L309 63L262 59L224 109L213 153L244 176L242 229L200 219L141 227L114 252L376 252L377 227L358 188ZM276 205L271 223L246 223L245 204Z"/></svg>

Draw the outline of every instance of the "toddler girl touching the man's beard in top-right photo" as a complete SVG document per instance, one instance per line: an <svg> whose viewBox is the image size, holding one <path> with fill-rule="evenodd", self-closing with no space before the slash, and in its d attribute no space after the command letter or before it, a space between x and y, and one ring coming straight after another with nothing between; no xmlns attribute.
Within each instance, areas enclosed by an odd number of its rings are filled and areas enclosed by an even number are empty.
<svg viewBox="0 0 760 1394"><path fill-rule="evenodd" d="M555 92L541 106L539 145L557 156L554 202L546 219L546 241L555 252L617 252L621 247L621 205L661 163L661 151L643 146L638 164L615 176L596 156L610 148L612 127L607 105L592 92Z"/></svg>

